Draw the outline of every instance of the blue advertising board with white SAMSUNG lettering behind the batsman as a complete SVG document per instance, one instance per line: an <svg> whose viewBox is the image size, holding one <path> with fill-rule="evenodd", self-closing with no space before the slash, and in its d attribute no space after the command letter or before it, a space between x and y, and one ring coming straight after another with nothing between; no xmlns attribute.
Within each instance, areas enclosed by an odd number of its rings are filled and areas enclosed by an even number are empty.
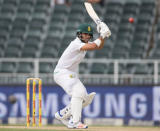
<svg viewBox="0 0 160 131"><path fill-rule="evenodd" d="M94 91L97 94L93 103L83 109L83 118L120 118L126 124L129 120L130 124L133 120L160 121L160 87L86 88L89 93ZM58 86L43 86L42 93L42 116L51 123L54 113L69 104L70 97ZM16 103L8 101L10 95L16 96ZM36 97L38 115L38 91ZM8 117L26 117L25 86L0 86L0 120L5 121Z"/></svg>

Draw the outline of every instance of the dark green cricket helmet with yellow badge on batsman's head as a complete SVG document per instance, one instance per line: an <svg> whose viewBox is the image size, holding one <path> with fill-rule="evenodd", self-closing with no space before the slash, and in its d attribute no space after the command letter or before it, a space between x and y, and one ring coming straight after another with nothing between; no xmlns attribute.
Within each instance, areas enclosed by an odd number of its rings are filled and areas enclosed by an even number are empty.
<svg viewBox="0 0 160 131"><path fill-rule="evenodd" d="M91 38L93 38L93 28L91 27L90 24L87 24L87 23L81 24L77 29L77 36L82 42L84 42L85 40L82 38L82 35L81 35L82 33L89 34Z"/></svg>

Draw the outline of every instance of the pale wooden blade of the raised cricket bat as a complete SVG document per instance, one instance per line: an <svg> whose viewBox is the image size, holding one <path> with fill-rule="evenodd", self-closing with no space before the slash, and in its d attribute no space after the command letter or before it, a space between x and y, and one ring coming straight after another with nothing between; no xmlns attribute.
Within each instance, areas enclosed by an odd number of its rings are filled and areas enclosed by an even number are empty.
<svg viewBox="0 0 160 131"><path fill-rule="evenodd" d="M93 21L96 24L99 24L101 22L100 18L98 17L97 13L95 12L95 10L93 9L91 3L88 2L84 2L85 8L89 14L89 16L93 19Z"/></svg>

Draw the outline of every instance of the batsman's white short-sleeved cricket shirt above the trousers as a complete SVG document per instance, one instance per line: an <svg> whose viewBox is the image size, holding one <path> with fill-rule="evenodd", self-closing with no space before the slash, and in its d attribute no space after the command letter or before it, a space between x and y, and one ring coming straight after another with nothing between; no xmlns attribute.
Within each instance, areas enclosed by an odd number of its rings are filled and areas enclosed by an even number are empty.
<svg viewBox="0 0 160 131"><path fill-rule="evenodd" d="M76 72L86 54L86 51L80 51L81 47L84 45L85 43L78 37L73 40L60 57L56 69L68 69Z"/></svg>

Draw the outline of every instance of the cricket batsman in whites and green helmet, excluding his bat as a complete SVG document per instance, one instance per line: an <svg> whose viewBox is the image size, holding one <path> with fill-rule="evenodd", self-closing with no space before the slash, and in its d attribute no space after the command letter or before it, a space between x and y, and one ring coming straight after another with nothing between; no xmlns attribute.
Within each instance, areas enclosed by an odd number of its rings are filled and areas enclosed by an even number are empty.
<svg viewBox="0 0 160 131"><path fill-rule="evenodd" d="M81 24L77 31L77 37L71 41L60 57L54 70L54 80L71 97L70 104L55 113L55 118L60 120L68 128L85 129L88 126L81 123L82 108L89 105L95 92L90 94L78 78L78 66L85 57L87 51L102 49L105 38L111 35L111 31L104 22L97 25L99 38L92 41L93 29L90 24Z"/></svg>

